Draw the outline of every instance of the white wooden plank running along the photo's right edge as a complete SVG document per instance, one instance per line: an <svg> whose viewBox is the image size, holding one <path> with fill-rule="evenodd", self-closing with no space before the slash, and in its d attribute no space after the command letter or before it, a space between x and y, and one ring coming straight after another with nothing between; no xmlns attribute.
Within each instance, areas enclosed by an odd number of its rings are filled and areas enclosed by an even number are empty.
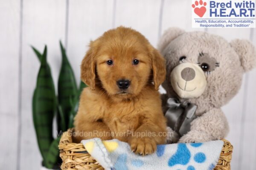
<svg viewBox="0 0 256 170"><path fill-rule="evenodd" d="M256 46L256 30L251 28L250 39ZM255 170L256 167L256 69L247 73L247 86L245 87L247 96L244 99L244 124L240 144L240 159L238 168L244 170Z"/></svg>

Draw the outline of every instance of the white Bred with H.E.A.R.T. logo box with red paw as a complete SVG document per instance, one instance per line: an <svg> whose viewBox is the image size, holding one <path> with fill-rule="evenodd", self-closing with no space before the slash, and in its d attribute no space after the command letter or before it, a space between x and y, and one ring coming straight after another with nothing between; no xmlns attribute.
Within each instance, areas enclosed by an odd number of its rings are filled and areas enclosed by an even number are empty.
<svg viewBox="0 0 256 170"><path fill-rule="evenodd" d="M255 0L192 0L193 28L255 28Z"/></svg>

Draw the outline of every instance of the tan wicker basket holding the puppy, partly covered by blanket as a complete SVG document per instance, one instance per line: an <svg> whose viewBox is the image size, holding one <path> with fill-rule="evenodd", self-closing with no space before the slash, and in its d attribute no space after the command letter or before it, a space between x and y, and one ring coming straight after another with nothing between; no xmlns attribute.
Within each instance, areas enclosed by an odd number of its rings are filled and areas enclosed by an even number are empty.
<svg viewBox="0 0 256 170"><path fill-rule="evenodd" d="M104 170L104 168L89 153L86 153L84 145L72 143L73 129L64 132L59 144L60 157L62 159L61 170ZM224 145L217 166L214 170L230 170L230 161L233 146L227 140Z"/></svg>

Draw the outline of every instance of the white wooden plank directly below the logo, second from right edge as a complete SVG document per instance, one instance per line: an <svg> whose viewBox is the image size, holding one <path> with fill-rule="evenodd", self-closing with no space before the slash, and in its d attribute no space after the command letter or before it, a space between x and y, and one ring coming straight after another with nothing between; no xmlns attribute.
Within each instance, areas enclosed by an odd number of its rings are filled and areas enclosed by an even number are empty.
<svg viewBox="0 0 256 170"><path fill-rule="evenodd" d="M241 29L241 28L208 28L208 32L212 34L217 34L224 37L226 40L230 41L236 38L239 39L247 39L250 38L250 30L249 29ZM239 93L231 99L231 101L223 107L223 111L227 116L229 125L230 125L230 133L227 136L227 140L229 140L233 146L233 157L232 157L232 169L239 170L239 154L240 151L240 144L241 144L241 128L244 122L241 122L243 116L243 101L246 97L244 94L245 87L247 81L243 78L243 82L240 88Z"/></svg>

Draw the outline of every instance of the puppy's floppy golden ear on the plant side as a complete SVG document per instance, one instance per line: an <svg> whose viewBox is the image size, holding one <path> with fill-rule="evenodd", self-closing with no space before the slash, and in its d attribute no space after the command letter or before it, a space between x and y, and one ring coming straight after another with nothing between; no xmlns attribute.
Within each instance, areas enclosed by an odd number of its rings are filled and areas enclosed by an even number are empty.
<svg viewBox="0 0 256 170"><path fill-rule="evenodd" d="M87 84L91 90L95 90L95 49L93 48L93 42L90 43L90 49L85 54L81 64L81 80Z"/></svg>

